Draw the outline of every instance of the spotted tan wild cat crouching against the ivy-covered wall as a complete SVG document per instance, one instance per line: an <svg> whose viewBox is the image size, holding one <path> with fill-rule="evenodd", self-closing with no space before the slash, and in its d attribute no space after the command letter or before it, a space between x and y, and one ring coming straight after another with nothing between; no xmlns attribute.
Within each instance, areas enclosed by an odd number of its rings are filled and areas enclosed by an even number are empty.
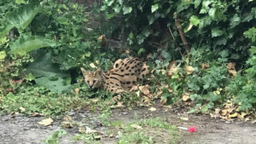
<svg viewBox="0 0 256 144"><path fill-rule="evenodd" d="M143 80L149 73L148 66L137 58L129 57L117 60L113 69L106 73L98 68L95 72L88 72L81 68L84 81L90 89L105 89L111 93L119 94L131 89L132 85Z"/></svg>

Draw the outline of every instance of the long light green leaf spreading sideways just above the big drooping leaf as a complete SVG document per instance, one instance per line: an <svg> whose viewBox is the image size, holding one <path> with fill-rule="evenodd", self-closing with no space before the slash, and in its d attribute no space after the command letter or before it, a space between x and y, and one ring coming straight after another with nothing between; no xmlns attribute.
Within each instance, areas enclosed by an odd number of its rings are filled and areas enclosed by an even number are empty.
<svg viewBox="0 0 256 144"><path fill-rule="evenodd" d="M25 55L26 53L39 48L53 47L55 42L45 37L24 36L17 39L14 43L10 43L10 54Z"/></svg>

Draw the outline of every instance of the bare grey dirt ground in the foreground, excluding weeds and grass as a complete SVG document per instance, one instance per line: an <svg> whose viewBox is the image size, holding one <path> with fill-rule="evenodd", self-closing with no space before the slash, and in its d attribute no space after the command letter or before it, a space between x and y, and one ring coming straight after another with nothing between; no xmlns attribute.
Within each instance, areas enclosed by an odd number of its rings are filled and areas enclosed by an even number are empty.
<svg viewBox="0 0 256 144"><path fill-rule="evenodd" d="M80 121L85 119L84 123L90 125L95 130L106 130L107 128L102 126L101 121L97 119L97 112L69 112L69 115L73 120ZM156 111L148 111L148 107L137 107L132 111L125 109L114 109L110 120L123 121L128 123L134 121L135 118L164 118L169 124L175 124L177 126L189 127L195 126L196 132L189 133L186 130L180 130L181 141L178 143L185 144L253 144L256 143L256 125L236 120L231 123L226 123L220 119L210 118L208 115L189 115L189 120L181 120L182 114L168 112L165 108L157 108ZM0 118L0 143L3 144L36 144L42 143L43 139L46 139L48 135L51 135L55 130L61 128L60 120L47 127L38 125L38 122L44 119L25 117L22 114L18 114L15 117L3 116ZM84 143L82 141L72 141L71 137L78 134L77 128L68 129L67 135L61 138L61 143ZM100 143L112 144L118 140L113 138L102 139ZM157 143L157 141L156 141Z"/></svg>

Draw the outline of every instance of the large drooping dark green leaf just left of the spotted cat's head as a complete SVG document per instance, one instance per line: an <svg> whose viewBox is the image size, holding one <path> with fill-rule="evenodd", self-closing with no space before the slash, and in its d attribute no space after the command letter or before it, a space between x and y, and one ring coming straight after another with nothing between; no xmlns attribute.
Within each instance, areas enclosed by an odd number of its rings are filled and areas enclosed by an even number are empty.
<svg viewBox="0 0 256 144"><path fill-rule="evenodd" d="M50 53L39 49L33 53L34 61L27 66L26 73L32 73L38 85L45 86L58 94L70 89L70 84L65 84L65 79L70 77L67 72L61 72L60 67L52 62Z"/></svg>

